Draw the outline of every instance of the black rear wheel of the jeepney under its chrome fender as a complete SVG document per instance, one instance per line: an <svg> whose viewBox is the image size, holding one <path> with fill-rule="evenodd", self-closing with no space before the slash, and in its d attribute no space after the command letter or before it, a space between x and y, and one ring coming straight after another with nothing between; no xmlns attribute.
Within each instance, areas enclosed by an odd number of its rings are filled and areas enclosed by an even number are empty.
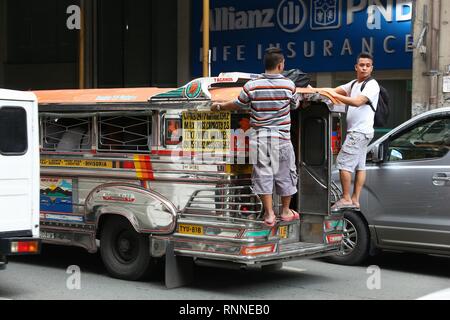
<svg viewBox="0 0 450 320"><path fill-rule="evenodd" d="M153 264L148 236L139 234L123 217L110 217L100 236L100 253L109 274L124 280L148 276Z"/></svg>

